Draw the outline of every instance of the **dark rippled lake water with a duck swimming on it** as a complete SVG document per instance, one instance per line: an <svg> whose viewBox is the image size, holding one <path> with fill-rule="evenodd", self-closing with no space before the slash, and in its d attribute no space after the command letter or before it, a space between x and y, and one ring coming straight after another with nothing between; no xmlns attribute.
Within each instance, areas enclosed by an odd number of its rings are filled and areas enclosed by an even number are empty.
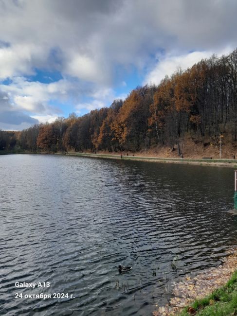
<svg viewBox="0 0 237 316"><path fill-rule="evenodd" d="M226 213L233 177L221 167L0 156L0 314L151 315L172 281L237 244ZM132 270L119 274L119 264ZM50 287L15 286L24 281Z"/></svg>

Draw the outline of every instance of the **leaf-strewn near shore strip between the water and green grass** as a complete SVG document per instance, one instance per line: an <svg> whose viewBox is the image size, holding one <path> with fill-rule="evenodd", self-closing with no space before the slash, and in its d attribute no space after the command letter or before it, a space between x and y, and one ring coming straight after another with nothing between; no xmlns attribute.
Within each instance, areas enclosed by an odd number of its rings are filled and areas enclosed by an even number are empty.
<svg viewBox="0 0 237 316"><path fill-rule="evenodd" d="M237 273L237 250L230 250L228 256L221 261L222 263L217 267L205 269L195 276L186 275L181 281L173 282L171 291L173 297L165 306L157 306L152 313L153 316L195 315L207 305L218 303L219 299L215 299L215 291L224 289Z"/></svg>

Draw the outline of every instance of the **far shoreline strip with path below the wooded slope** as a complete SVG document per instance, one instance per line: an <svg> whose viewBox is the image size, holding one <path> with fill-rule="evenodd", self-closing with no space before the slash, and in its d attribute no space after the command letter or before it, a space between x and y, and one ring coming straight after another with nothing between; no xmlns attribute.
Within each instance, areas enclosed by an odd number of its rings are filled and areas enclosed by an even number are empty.
<svg viewBox="0 0 237 316"><path fill-rule="evenodd" d="M93 154L93 153L73 153L68 152L67 154L55 153L55 155L65 156L78 156L78 157L89 157L89 158L104 158L104 159L118 159L121 160L121 155L109 155L109 154ZM216 167L232 167L237 168L237 160L233 159L198 159L198 158L158 158L158 157L146 157L146 156L125 156L124 160L135 160L135 161L147 161L147 162L160 162L160 163L179 163L179 164L193 164L193 165L206 165Z"/></svg>

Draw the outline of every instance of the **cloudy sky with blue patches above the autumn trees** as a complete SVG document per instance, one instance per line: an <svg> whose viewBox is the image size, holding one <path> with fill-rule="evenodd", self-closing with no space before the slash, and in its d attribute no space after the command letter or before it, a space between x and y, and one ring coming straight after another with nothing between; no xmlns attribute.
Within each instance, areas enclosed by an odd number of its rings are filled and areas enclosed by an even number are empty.
<svg viewBox="0 0 237 316"><path fill-rule="evenodd" d="M0 129L78 116L237 48L236 0L0 0Z"/></svg>

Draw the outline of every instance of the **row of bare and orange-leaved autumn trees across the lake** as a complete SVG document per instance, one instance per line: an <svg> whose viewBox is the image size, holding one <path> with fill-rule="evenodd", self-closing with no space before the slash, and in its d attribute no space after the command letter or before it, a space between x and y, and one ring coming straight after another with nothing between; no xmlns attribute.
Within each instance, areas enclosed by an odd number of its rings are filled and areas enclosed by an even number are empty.
<svg viewBox="0 0 237 316"><path fill-rule="evenodd" d="M201 60L158 86L138 87L109 108L34 125L18 137L1 131L0 150L135 152L160 143L177 146L180 155L184 136L218 142L223 133L237 140L237 50Z"/></svg>

